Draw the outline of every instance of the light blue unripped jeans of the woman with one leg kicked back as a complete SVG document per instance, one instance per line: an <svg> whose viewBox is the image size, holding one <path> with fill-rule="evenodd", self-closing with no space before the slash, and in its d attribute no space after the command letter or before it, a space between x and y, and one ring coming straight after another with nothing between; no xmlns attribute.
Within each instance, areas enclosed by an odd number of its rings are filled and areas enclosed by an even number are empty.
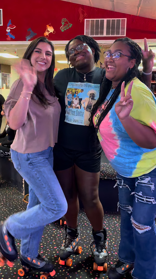
<svg viewBox="0 0 156 279"><path fill-rule="evenodd" d="M26 211L6 220L8 231L21 239L21 254L36 258L44 226L67 212L67 201L53 171L53 148L22 154L11 149L15 169L29 184L29 204Z"/></svg>

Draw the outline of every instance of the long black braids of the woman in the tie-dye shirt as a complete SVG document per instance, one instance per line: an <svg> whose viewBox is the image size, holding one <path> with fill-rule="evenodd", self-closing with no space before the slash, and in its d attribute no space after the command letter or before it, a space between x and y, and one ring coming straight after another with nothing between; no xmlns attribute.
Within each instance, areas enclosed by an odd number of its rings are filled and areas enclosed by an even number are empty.
<svg viewBox="0 0 156 279"><path fill-rule="evenodd" d="M119 38L119 39L115 40L115 42L118 42L118 41L123 42L124 44L127 44L129 46L130 54L131 54L131 58L129 58L129 59L130 60L135 59L136 61L135 61L134 67L131 70L127 71L126 75L122 78L122 80L119 82L119 84L113 91L110 99L104 105L103 112L100 114L100 116L98 118L98 122L96 123L96 126L95 126L96 132L99 131L99 126L100 126L101 122L103 121L104 117L108 114L108 112L112 108L113 104L117 100L117 97L121 92L122 82L125 81L125 87L126 87L127 83L130 83L132 81L132 79L135 77L139 78L143 82L141 75L140 75L140 71L138 69L138 67L141 63L141 59L142 59L141 48L139 47L139 45L137 43L132 41L130 38ZM103 104L104 101L106 100L106 97L107 97L109 91L111 90L111 87L112 87L112 81L110 81L109 79L104 77L101 88L100 88L99 99L94 104L94 107L91 111L91 117L89 119L90 125L93 125L93 116L97 112L97 109L99 108L99 106L101 104Z"/></svg>

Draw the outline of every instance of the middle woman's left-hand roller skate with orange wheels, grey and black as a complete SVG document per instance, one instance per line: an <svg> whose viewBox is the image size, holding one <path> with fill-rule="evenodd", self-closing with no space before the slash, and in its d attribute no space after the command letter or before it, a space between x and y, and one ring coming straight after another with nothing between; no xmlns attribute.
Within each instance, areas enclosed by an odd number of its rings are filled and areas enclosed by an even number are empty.
<svg viewBox="0 0 156 279"><path fill-rule="evenodd" d="M77 244L80 239L80 227L77 227L76 229L65 226L65 238L63 240L62 247L59 251L59 259L58 262L61 265L71 266L72 265L72 259L69 257L73 255L75 252L78 254L81 254L82 247L77 247Z"/></svg>

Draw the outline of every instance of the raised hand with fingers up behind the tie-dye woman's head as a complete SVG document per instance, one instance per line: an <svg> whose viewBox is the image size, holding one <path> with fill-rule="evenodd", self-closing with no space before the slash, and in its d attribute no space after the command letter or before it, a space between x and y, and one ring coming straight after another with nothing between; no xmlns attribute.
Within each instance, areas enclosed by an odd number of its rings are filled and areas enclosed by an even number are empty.
<svg viewBox="0 0 156 279"><path fill-rule="evenodd" d="M152 71L152 68L154 66L154 52L150 49L148 50L147 45L147 39L144 38L144 50L142 50L142 65L143 65L143 71L145 73L150 73Z"/></svg>

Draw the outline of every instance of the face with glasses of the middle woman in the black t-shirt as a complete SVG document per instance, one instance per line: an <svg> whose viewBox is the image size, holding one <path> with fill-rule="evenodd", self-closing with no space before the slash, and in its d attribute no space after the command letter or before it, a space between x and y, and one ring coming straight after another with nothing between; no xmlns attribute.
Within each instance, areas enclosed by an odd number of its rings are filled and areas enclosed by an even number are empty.
<svg viewBox="0 0 156 279"><path fill-rule="evenodd" d="M71 48L76 48L79 44L84 44L85 42L82 42L78 39L73 40L68 47L68 50ZM69 57L69 61L73 67L76 69L81 69L85 66L88 66L90 63L93 63L94 60L94 48L90 48L89 46L84 46L84 49L82 51L75 50L75 54Z"/></svg>

